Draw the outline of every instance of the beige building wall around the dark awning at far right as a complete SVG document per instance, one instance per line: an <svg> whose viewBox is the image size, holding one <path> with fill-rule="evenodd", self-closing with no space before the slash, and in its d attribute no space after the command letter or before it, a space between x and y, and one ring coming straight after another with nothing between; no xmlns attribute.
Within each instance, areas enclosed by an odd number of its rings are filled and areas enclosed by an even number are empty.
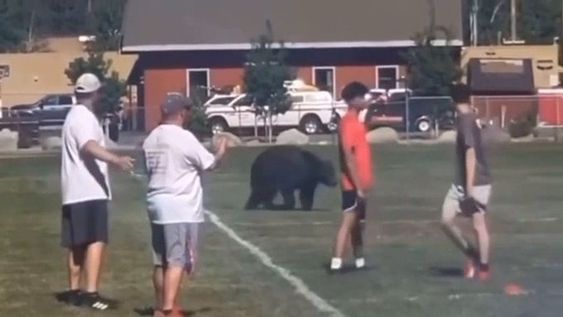
<svg viewBox="0 0 563 317"><path fill-rule="evenodd" d="M461 67L466 82L467 64L471 59L531 59L536 88L559 85L559 47L557 45L504 45L465 47L461 52Z"/></svg>

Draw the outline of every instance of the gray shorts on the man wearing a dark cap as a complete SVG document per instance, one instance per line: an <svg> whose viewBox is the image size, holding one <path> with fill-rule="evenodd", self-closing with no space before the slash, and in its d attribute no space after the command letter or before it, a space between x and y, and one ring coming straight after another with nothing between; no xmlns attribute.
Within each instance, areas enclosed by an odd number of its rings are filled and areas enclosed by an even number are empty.
<svg viewBox="0 0 563 317"><path fill-rule="evenodd" d="M192 271L197 259L199 223L151 224L155 266L181 266Z"/></svg>

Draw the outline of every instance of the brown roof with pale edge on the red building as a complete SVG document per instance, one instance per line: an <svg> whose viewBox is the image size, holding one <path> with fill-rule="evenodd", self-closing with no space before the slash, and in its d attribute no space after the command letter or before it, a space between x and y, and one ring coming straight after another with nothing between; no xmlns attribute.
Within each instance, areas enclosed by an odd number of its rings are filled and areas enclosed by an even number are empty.
<svg viewBox="0 0 563 317"><path fill-rule="evenodd" d="M463 0L129 0L123 52L237 50L266 29L290 48L405 47L430 22L461 45ZM445 43L442 39L442 44Z"/></svg>

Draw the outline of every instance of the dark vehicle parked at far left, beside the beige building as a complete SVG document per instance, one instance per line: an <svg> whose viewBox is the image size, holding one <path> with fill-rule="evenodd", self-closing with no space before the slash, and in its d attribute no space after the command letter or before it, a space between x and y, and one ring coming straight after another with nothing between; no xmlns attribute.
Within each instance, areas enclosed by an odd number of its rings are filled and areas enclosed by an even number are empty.
<svg viewBox="0 0 563 317"><path fill-rule="evenodd" d="M10 107L11 116L30 117L41 126L62 125L70 107L76 104L73 94L47 95L32 104Z"/></svg>

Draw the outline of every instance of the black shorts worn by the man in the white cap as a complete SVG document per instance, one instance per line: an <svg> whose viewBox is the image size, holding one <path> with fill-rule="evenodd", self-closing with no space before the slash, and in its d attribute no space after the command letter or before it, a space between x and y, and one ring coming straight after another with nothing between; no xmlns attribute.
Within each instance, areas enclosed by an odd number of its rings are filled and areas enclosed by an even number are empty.
<svg viewBox="0 0 563 317"><path fill-rule="evenodd" d="M65 248L108 242L108 201L63 205L61 245Z"/></svg>

